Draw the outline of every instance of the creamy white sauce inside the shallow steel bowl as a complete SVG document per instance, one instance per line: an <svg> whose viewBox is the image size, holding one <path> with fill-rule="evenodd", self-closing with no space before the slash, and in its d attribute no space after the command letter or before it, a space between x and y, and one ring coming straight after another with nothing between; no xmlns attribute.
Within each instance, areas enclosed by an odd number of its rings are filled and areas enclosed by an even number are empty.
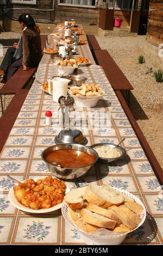
<svg viewBox="0 0 163 256"><path fill-rule="evenodd" d="M93 148L96 150L96 152L98 153L99 157L103 157L103 158L116 158L122 155L122 151L118 148L113 149L113 147L108 146L97 146L95 148Z"/></svg>

